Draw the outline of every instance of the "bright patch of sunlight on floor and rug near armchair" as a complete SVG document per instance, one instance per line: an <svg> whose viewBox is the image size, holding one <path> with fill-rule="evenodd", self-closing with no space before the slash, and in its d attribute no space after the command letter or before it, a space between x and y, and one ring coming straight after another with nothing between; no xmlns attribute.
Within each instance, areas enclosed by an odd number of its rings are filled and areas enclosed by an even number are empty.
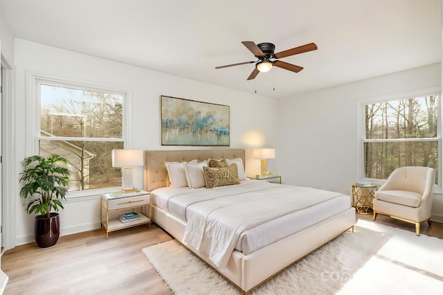
<svg viewBox="0 0 443 295"><path fill-rule="evenodd" d="M392 238L338 294L443 294L443 240L365 220L357 224Z"/></svg>

